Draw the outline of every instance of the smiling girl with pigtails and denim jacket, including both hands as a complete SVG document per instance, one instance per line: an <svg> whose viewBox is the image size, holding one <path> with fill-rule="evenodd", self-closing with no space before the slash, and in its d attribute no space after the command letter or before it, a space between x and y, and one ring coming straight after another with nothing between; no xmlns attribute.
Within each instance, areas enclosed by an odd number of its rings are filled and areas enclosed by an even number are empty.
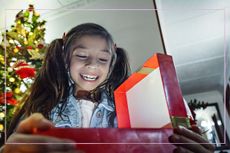
<svg viewBox="0 0 230 153"><path fill-rule="evenodd" d="M3 152L77 152L70 140L31 135L35 128L117 127L113 91L129 72L125 51L116 47L106 29L93 23L74 27L50 44L31 94L8 130L7 143L13 144L5 144ZM206 142L190 130L178 131L170 137L172 142ZM186 141L178 139L182 136ZM209 144L198 143L195 148L211 150ZM185 148L177 150L197 152L193 147Z"/></svg>

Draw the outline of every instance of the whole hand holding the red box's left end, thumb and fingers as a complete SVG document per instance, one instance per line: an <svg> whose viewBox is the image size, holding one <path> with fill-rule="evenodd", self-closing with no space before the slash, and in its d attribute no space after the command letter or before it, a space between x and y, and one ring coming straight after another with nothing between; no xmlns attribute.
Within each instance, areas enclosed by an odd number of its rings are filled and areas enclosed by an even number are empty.
<svg viewBox="0 0 230 153"><path fill-rule="evenodd" d="M18 125L16 132L8 138L3 153L76 153L75 144L71 140L32 135L35 129L47 130L52 127L50 121L34 113Z"/></svg>

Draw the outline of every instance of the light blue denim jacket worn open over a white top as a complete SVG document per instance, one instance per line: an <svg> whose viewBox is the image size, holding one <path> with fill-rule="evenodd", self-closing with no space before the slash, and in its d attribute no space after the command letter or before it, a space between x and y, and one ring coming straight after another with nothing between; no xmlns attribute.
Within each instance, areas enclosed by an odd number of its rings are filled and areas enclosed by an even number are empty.
<svg viewBox="0 0 230 153"><path fill-rule="evenodd" d="M61 104L58 104L51 111L50 119L55 124L55 127L72 127L81 128L82 126L82 114L80 111L79 102L76 98L70 94L67 98L67 104L61 113L58 114ZM116 117L113 124L110 123L111 114L115 111L114 102L109 98L106 92L101 94L101 102L96 106L93 111L90 128L107 128L117 127Z"/></svg>

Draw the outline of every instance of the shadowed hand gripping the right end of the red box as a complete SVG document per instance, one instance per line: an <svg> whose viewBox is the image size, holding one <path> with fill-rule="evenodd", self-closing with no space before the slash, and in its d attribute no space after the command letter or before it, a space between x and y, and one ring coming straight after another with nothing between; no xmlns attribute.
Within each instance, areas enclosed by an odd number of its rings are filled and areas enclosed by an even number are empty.
<svg viewBox="0 0 230 153"><path fill-rule="evenodd" d="M177 148L174 153L213 153L214 146L200 135L198 127L189 130L185 127L174 129L174 134L169 137L169 141Z"/></svg>

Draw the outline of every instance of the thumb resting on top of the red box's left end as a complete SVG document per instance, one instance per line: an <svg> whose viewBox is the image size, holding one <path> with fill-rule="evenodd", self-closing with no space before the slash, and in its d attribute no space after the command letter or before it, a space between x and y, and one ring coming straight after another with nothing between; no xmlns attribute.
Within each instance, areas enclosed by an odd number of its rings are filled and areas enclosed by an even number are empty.
<svg viewBox="0 0 230 153"><path fill-rule="evenodd" d="M40 113L34 113L27 119L20 122L17 133L31 134L34 130L48 130L54 127L54 125Z"/></svg>

